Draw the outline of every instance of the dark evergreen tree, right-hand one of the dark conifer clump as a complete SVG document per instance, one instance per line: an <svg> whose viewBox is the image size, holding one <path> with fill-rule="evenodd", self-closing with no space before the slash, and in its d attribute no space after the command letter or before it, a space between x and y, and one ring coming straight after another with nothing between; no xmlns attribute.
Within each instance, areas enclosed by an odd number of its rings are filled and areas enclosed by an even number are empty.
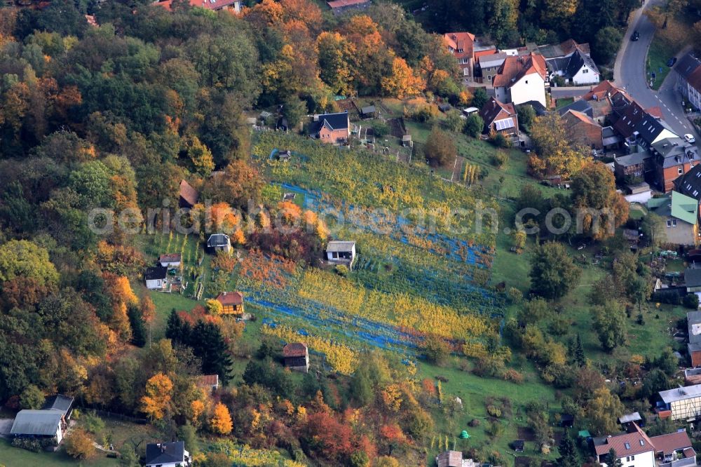
<svg viewBox="0 0 701 467"><path fill-rule="evenodd" d="M199 320L185 342L192 347L195 356L202 359L204 374L218 374L223 384L226 384L231 372L231 356L224 335L219 326Z"/></svg>

